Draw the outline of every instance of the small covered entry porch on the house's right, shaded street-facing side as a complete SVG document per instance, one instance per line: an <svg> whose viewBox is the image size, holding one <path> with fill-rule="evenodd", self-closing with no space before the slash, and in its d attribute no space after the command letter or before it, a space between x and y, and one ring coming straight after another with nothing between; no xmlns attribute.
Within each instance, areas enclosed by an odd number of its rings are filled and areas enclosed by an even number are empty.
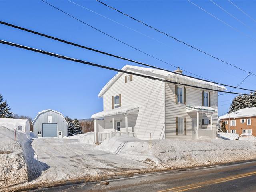
<svg viewBox="0 0 256 192"><path fill-rule="evenodd" d="M198 139L201 136L216 138L216 124L213 124L212 107L205 106L186 106L186 112L191 117L192 139Z"/></svg>

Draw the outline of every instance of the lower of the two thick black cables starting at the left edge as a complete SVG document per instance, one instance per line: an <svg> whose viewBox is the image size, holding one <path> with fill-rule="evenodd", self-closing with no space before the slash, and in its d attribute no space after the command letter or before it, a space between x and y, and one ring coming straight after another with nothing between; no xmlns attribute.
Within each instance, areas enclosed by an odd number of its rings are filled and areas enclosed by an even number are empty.
<svg viewBox="0 0 256 192"><path fill-rule="evenodd" d="M53 56L53 57L57 57L57 58L61 58L61 59L64 59L64 60L70 60L70 61L83 63L83 64L86 64L86 65L95 66L95 67L99 67L99 68L104 68L104 69L108 69L108 70L112 70L112 71L116 71L116 72L121 72L121 73L125 73L125 74L140 76L140 77L148 78L148 79L151 79L151 80L158 80L158 81L167 82L167 83L171 83L171 84L178 84L178 85L183 85L183 86L188 86L188 87L193 87L193 88L199 88L199 89L204 89L204 90L211 90L211 91L216 91L216 92L224 92L224 93L240 94L240 95L249 95L249 94L242 94L242 93L236 93L236 92L227 92L227 91L223 91L223 90L216 90L216 89L211 89L211 88L204 88L204 87L200 87L200 86L194 86L194 85L188 85L188 84L184 84L184 83L173 82L173 81L170 81L170 80L160 79L160 78L156 78L156 77L152 77L152 76L146 76L146 75L142 75L142 74L138 74L138 73L134 73L134 72L124 71L124 70L120 70L120 69L116 69L116 68L112 68L112 67L108 67L108 66L103 66L103 65L100 65L100 64L87 62L87 61L84 61L84 60L79 60L79 59L76 59L76 58L71 58L71 57L68 57L68 56L63 56L63 55L60 55L60 54L47 52L47 51L36 49L36 48L31 48L31 47L28 47L28 46L23 46L23 45L20 45L20 44L16 44L16 43L4 41L4 40L0 40L0 43L10 45L10 46L14 46L14 47L18 47L18 48L22 48L22 49L26 49L26 50L30 50L30 51L33 51L33 52L38 52L38 53L41 53L41 54L45 54L45 55L49 55L49 56Z"/></svg>

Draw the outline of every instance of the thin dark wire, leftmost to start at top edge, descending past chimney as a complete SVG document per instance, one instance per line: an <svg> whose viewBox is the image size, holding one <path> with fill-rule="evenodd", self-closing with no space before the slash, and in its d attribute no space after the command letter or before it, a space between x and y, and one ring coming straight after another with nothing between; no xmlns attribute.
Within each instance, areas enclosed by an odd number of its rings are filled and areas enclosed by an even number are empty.
<svg viewBox="0 0 256 192"><path fill-rule="evenodd" d="M50 6L52 6L53 8L55 8L55 9L57 9L57 10L63 12L64 14L66 14L66 15L68 15L68 16L70 16L70 17L72 17L72 18L74 18L74 19L76 19L76 20L82 22L83 24L86 24L87 26L89 26L89 27L91 27L91 28L97 30L98 32L101 32L102 34L105 34L106 36L108 36L108 37L110 37L110 38L112 38L112 39L114 39L114 40L117 40L118 42L120 42L120 43L122 43L122 44L125 44L125 45L129 46L130 48L133 48L133 49L135 49L135 50L137 50L137 51L139 51L139 52L142 52L143 54L146 54L147 56L150 56L150 57L152 57L152 58L154 58L154 59L156 59L156 60L158 60L158 61L161 61L161 62L163 62L163 63L165 63L165 64L168 64L168 65L170 65L170 66L173 66L173 67L175 67L175 68L178 68L177 66L174 66L174 65L172 65L172 64L170 64L170 63L168 63L168 62L165 62L164 60L161 60L161 59L159 59L159 58L157 58L157 57L155 57L155 56L152 56L152 55L150 55L150 54L148 54L148 53L146 53L146 52L144 52L144 51L142 51L142 50L139 50L138 48L135 48L134 46L131 46L131 45L129 45L129 44L127 44L127 43L125 43L125 42L123 42L123 41L121 41L121 40L119 40L119 39L117 39L117 38L115 38L115 37L113 37L113 36L111 36L111 35L109 35L109 34L103 32L102 30L99 30L99 29L95 28L94 26L89 25L89 24L86 23L86 22L83 22L82 20L80 20L80 19L78 19L78 18L76 18L76 17L74 17L74 16L68 14L67 12L65 12L65 11L63 11L63 10L61 10L61 9L59 9L59 8L57 8L57 7L55 7L55 6L53 6L52 4L50 4L50 3L48 3L48 2L46 2L46 1L44 1L44 0L41 0L41 1L44 2L44 3L46 3L46 4L48 4L48 5L50 5ZM182 69L182 68L180 68L180 69ZM185 71L185 72L187 72L187 73L190 73L190 74L192 74L192 75L198 76L198 77L200 77L200 78L203 78L203 79L206 79L206 80L210 80L210 79L208 79L208 78L205 78L205 77L196 75L196 74L194 74L194 73L192 73L192 72L189 72L189 71L186 71L186 70L184 70L184 69L182 69L182 70ZM210 81L211 81L211 80L210 80Z"/></svg>

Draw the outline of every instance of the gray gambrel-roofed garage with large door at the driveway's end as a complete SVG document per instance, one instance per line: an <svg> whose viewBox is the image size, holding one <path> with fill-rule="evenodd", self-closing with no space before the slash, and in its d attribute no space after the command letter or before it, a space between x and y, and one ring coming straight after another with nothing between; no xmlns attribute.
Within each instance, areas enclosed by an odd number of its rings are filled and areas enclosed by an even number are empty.
<svg viewBox="0 0 256 192"><path fill-rule="evenodd" d="M47 109L39 112L32 125L33 132L38 137L62 138L68 134L68 123L64 116L55 110Z"/></svg>

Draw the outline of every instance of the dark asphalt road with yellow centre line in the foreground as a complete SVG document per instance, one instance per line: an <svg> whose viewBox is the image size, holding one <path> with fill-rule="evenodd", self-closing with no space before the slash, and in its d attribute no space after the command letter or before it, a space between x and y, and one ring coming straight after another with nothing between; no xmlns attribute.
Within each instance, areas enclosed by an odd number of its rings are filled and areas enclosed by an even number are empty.
<svg viewBox="0 0 256 192"><path fill-rule="evenodd" d="M137 174L130 178L33 190L36 192L255 192L256 161Z"/></svg>

